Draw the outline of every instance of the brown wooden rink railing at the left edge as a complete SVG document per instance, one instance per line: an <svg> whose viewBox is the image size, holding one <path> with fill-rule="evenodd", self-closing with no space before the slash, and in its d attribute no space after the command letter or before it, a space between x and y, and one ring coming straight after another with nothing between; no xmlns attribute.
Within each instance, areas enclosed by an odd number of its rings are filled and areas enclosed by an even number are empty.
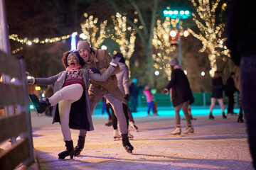
<svg viewBox="0 0 256 170"><path fill-rule="evenodd" d="M6 55L0 50L0 169L28 167L36 162L33 152L31 116L28 108L28 85L23 57ZM18 139L18 140L17 140ZM0 145L1 146L1 145Z"/></svg>

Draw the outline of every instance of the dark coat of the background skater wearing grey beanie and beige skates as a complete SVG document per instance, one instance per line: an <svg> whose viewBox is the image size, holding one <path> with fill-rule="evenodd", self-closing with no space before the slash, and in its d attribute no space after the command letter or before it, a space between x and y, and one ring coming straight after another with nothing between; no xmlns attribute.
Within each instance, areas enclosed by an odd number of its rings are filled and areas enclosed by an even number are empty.
<svg viewBox="0 0 256 170"><path fill-rule="evenodd" d="M194 102L188 78L182 69L174 69L174 71L171 72L171 81L169 81L166 89L171 89L171 98L174 107L185 101L190 101L190 104Z"/></svg>

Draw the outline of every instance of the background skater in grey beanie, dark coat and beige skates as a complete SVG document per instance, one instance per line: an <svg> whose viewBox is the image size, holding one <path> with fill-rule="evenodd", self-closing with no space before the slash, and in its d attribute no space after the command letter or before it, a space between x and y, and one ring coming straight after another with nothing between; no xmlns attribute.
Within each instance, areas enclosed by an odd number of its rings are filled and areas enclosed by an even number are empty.
<svg viewBox="0 0 256 170"><path fill-rule="evenodd" d="M171 89L171 101L174 106L176 122L176 129L171 132L171 135L181 135L181 116L179 114L181 108L187 122L187 127L183 134L193 133L194 130L191 118L188 115L188 105L194 102L194 98L189 86L188 78L181 69L181 66L178 65L178 60L176 58L171 59L169 64L171 66L171 81L169 81L169 84L162 93L168 94Z"/></svg>

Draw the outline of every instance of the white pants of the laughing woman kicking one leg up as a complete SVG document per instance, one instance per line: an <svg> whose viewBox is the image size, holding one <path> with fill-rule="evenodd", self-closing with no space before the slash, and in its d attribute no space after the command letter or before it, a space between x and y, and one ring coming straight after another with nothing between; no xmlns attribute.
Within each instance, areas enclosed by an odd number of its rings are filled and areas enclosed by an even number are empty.
<svg viewBox="0 0 256 170"><path fill-rule="evenodd" d="M58 105L60 113L60 127L63 133L64 141L71 140L71 132L69 128L69 116L71 104L78 101L82 96L83 88L81 84L71 84L57 91L53 96L48 98L51 106ZM80 136L86 135L86 130L80 130Z"/></svg>

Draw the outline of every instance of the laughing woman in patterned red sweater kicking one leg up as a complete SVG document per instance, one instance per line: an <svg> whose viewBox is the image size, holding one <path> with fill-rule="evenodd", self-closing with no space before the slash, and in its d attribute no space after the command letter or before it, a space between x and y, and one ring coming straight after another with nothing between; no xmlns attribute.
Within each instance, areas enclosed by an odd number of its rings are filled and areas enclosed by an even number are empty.
<svg viewBox="0 0 256 170"><path fill-rule="evenodd" d="M54 94L50 98L39 101L36 95L30 94L31 102L38 113L43 113L53 106L53 123L59 122L66 150L60 152L58 157L65 159L70 156L73 159L82 151L87 131L94 130L87 92L88 80L105 81L114 71L114 67L120 59L117 54L112 59L112 64L103 74L92 74L87 69L82 69L84 64L77 51L68 51L63 54L65 71L48 78L28 79L28 84L50 85L54 84ZM73 147L71 129L80 130L78 146Z"/></svg>

